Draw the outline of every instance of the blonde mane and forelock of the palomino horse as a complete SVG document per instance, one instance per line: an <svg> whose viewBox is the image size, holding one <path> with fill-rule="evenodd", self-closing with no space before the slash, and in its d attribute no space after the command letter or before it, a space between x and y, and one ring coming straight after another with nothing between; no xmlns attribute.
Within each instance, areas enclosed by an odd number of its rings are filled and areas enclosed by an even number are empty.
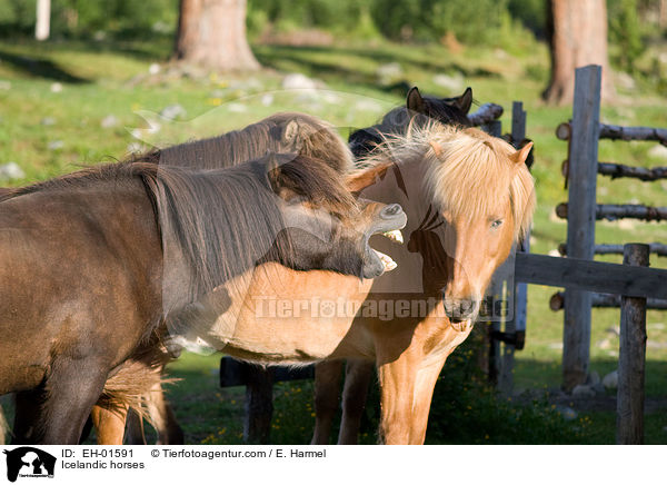
<svg viewBox="0 0 667 485"><path fill-rule="evenodd" d="M440 210L452 217L492 216L511 205L515 239L529 229L535 210L534 181L516 150L505 140L476 128L437 121L411 126L405 135L387 135L360 166L422 160L429 164L425 189Z"/></svg>

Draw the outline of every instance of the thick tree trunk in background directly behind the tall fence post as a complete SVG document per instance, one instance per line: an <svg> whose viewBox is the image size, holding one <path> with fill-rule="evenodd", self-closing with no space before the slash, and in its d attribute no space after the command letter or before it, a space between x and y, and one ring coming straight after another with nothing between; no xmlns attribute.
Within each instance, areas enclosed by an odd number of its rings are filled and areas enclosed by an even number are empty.
<svg viewBox="0 0 667 485"><path fill-rule="evenodd" d="M547 34L551 55L551 81L542 93L549 103L567 105L575 92L575 69L603 67L603 99L614 88L607 56L607 4L605 0L550 0Z"/></svg>

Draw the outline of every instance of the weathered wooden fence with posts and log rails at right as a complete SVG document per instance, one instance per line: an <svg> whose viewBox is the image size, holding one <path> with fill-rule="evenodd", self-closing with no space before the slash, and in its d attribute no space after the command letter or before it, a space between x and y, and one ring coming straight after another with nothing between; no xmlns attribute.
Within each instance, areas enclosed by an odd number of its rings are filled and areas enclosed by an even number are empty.
<svg viewBox="0 0 667 485"><path fill-rule="evenodd" d="M559 247L567 259L550 263L551 270L560 270L560 285L557 284L558 278L554 278L556 273L547 278L548 283L544 274L535 283L566 287L565 293L551 297L549 305L554 310L565 309L563 384L567 390L584 384L588 377L591 307L621 308L617 443L639 444L644 439L646 309L667 308L667 271L644 267L648 266L650 253L664 256L667 247L659 242L596 245L595 222L620 218L665 220L667 207L596 204L596 186L598 175L641 181L665 179L667 167L641 168L598 161L598 141L653 140L667 146L667 130L600 123L600 83L599 66L577 69L573 119L556 130L558 138L568 141L568 158L563 164L563 174L569 201L556 208L557 216L568 222L567 242ZM627 266L595 263L595 254L623 254ZM536 271L539 267L535 258L524 263L526 267L522 269L526 270L530 267L531 271ZM542 270L549 270L544 266L547 261L541 264ZM520 273L517 268L519 279L524 277Z"/></svg>

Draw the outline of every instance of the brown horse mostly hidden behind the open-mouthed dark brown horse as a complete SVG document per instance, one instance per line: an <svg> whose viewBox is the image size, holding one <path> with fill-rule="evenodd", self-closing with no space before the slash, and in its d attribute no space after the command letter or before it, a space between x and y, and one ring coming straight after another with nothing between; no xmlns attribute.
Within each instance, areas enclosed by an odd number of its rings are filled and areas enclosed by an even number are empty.
<svg viewBox="0 0 667 485"><path fill-rule="evenodd" d="M213 169L232 167L269 152L300 154L321 159L339 172L351 168L352 156L345 141L326 121L299 112L280 112L248 127L213 138L168 147L140 158L162 165ZM162 355L166 363L169 354ZM137 369L135 369L137 372ZM122 374L122 373L121 373ZM175 419L171 406L161 393L160 376L156 366L142 369L146 384L152 382L150 395L137 400L135 407L146 407L149 422L158 432L158 444L182 443L182 430ZM128 394L128 393L125 393ZM104 398L93 408L92 422L98 430L99 444L121 444L128 403ZM126 441L146 443L143 413L130 413Z"/></svg>

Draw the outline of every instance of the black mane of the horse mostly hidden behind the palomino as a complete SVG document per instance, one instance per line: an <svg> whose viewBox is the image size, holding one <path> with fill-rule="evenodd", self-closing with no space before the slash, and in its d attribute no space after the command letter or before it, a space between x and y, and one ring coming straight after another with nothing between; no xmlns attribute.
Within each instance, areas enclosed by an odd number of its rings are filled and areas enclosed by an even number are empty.
<svg viewBox="0 0 667 485"><path fill-rule="evenodd" d="M454 99L454 98L451 98ZM394 108L382 120L372 127L362 128L352 132L349 137L349 146L356 158L360 158L385 140L384 135L401 135L412 123L416 127L426 126L435 119L445 125L470 127L470 120L465 112L451 103L451 99L438 99L425 96L424 113L410 111L405 106Z"/></svg>

